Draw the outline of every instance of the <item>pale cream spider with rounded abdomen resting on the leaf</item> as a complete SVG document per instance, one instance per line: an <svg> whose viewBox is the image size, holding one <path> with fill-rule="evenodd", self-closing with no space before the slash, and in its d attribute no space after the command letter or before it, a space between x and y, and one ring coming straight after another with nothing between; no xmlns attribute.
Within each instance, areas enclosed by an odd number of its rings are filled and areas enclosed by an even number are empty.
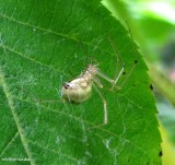
<svg viewBox="0 0 175 165"><path fill-rule="evenodd" d="M120 69L118 76L113 80L108 78L105 73L103 73L98 69L97 64L89 64L86 70L82 72L78 78L73 79L70 82L66 82L62 85L61 95L65 99L69 102L82 103L91 96L92 87L94 87L95 91L98 93L100 97L102 98L104 106L104 121L98 126L107 125L107 102L102 95L101 91L98 90L98 87L103 87L103 84L101 83L98 76L112 83L114 87L117 84L119 78L121 76L124 70L125 63L122 64L122 68Z"/></svg>

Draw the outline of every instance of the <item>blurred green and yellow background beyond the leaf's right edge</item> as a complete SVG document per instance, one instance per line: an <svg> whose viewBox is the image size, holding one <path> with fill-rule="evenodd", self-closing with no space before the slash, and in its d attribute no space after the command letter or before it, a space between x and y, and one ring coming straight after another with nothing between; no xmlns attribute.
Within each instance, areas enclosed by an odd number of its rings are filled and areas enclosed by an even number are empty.
<svg viewBox="0 0 175 165"><path fill-rule="evenodd" d="M125 26L128 22L149 67L159 110L163 165L175 165L175 1L103 0L103 4Z"/></svg>

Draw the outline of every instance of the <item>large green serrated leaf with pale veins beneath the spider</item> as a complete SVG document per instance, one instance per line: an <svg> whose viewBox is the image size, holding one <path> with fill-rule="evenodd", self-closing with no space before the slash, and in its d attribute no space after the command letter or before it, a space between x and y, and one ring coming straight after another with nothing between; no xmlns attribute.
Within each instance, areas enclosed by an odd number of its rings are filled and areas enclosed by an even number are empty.
<svg viewBox="0 0 175 165"><path fill-rule="evenodd" d="M0 5L1 164L161 164L161 138L147 67L127 31L97 0L12 1ZM110 38L119 51L119 63ZM138 60L138 63L135 61ZM102 80L81 104L62 102L61 85L90 62L114 78ZM58 99L58 102L37 102ZM18 158L28 158L19 162Z"/></svg>

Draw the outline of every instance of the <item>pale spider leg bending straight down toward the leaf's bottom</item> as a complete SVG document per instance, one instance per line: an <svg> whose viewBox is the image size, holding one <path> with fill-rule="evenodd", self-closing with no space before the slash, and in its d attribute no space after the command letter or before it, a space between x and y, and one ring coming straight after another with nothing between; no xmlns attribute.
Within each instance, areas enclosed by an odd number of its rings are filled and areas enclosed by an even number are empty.
<svg viewBox="0 0 175 165"><path fill-rule="evenodd" d="M100 127L103 125L107 125L107 102L104 98L104 96L102 95L101 91L96 87L96 85L94 83L92 83L92 85L95 89L95 91L97 92L97 94L100 95L100 97L103 102L103 106L104 106L104 121L103 121L103 123L93 127L93 128L95 128L95 127Z"/></svg>

